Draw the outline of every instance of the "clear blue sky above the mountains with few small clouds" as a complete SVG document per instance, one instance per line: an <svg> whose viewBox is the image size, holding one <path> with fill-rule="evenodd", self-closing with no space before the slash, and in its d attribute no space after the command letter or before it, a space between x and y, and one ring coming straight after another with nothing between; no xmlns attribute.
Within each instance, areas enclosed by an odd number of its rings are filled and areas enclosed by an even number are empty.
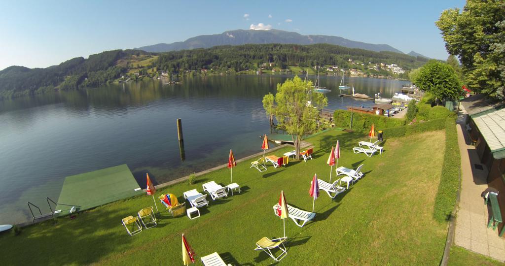
<svg viewBox="0 0 505 266"><path fill-rule="evenodd" d="M443 10L464 5L464 0L0 0L0 69L47 67L104 50L183 41L259 23L300 34L386 43L403 52L446 59L434 22Z"/></svg>

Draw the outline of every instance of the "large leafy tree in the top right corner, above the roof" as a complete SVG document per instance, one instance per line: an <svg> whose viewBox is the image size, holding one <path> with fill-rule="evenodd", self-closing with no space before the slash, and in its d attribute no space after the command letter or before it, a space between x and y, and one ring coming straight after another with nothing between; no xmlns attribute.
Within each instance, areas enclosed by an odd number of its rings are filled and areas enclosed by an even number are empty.
<svg viewBox="0 0 505 266"><path fill-rule="evenodd" d="M443 11L436 25L470 88L505 99L505 2L468 0L462 12Z"/></svg>

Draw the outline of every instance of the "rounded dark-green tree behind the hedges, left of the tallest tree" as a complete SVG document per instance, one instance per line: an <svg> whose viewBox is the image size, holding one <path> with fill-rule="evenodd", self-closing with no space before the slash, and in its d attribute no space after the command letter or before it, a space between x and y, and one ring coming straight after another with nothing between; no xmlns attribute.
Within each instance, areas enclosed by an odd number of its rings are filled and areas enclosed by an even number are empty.
<svg viewBox="0 0 505 266"><path fill-rule="evenodd" d="M456 99L463 95L461 81L456 71L449 65L430 60L421 68L414 81L416 85L435 98L435 102L444 99Z"/></svg>

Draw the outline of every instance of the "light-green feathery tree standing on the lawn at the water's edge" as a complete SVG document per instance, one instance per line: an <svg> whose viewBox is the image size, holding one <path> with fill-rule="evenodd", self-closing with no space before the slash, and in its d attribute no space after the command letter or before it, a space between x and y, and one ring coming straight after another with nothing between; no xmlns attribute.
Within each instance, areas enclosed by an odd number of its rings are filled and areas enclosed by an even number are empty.
<svg viewBox="0 0 505 266"><path fill-rule="evenodd" d="M328 105L328 98L312 90L312 81L302 81L298 76L287 79L282 85L277 84L275 104L272 110L277 118L278 127L291 135L296 158L300 158L300 143L305 135L316 131L319 109ZM267 94L263 102L270 102L272 94Z"/></svg>

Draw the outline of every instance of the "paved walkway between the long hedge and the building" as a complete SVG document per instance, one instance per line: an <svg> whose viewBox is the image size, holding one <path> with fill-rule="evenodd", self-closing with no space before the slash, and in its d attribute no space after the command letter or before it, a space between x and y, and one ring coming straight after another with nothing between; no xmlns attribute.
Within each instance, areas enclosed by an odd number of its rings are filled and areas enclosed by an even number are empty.
<svg viewBox="0 0 505 266"><path fill-rule="evenodd" d="M487 228L488 209L480 194L487 188L486 166L479 161L464 124L466 112L458 119L458 144L461 152L461 198L456 217L455 244L474 252L505 261L505 239ZM481 165L484 170L475 168Z"/></svg>

